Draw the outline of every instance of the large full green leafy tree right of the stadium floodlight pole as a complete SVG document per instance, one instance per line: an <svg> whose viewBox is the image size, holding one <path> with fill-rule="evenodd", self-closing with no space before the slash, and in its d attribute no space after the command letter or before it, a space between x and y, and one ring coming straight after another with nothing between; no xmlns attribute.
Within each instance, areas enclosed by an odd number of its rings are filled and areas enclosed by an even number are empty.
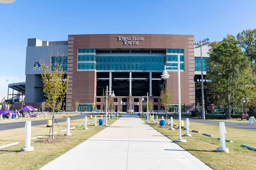
<svg viewBox="0 0 256 170"><path fill-rule="evenodd" d="M207 60L207 79L211 80L208 87L217 98L217 103L227 108L228 119L234 104L240 102L241 96L254 88L255 81L250 71L250 62L245 57L238 41L227 35L221 42L212 42Z"/></svg>

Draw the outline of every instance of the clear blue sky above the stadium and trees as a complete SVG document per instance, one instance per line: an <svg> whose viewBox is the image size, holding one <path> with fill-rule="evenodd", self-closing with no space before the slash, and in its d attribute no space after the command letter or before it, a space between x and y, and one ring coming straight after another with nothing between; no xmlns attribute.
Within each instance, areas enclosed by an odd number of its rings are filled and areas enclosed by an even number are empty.
<svg viewBox="0 0 256 170"><path fill-rule="evenodd" d="M0 3L0 93L25 81L27 38L68 34L192 34L220 41L256 28L255 0L16 0Z"/></svg>

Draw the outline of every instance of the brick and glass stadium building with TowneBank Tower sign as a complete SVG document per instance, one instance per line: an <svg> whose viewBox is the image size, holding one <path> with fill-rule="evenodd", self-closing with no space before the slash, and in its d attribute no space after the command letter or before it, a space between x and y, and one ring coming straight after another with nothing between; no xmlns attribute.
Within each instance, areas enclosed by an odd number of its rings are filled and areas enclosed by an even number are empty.
<svg viewBox="0 0 256 170"><path fill-rule="evenodd" d="M193 45L193 35L169 34L68 35L67 41L55 42L28 39L25 104L38 108L45 99L41 64L63 62L64 72L70 77L64 101L66 111L75 111L78 101L79 111L92 111L93 103L97 110L103 111L103 89L107 86L115 94L115 109L118 105L119 111L141 111L141 99L143 96L146 99L147 93L154 102L153 110L160 111L159 84L163 81L174 91L174 105L169 111L175 111L178 108L177 68L167 69L169 79L163 80L160 75L164 65L177 66L180 54L183 111L195 111L194 76L201 77L201 62L200 56L195 58L198 49Z"/></svg>

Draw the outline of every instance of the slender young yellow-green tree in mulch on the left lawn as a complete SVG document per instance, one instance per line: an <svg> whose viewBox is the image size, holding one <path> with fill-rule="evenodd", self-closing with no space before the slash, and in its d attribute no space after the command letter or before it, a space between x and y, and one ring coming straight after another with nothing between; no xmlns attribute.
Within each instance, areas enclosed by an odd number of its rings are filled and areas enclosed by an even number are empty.
<svg viewBox="0 0 256 170"><path fill-rule="evenodd" d="M65 74L62 65L58 63L50 66L42 64L41 69L41 77L44 84L43 92L46 97L45 106L52 109L52 139L54 139L54 111L61 109L67 92L69 77L64 81Z"/></svg>

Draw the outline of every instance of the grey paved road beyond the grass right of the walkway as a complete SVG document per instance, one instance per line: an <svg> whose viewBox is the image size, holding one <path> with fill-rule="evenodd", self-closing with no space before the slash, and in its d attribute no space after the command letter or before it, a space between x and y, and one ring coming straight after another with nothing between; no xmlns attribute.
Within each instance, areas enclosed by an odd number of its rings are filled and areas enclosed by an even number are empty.
<svg viewBox="0 0 256 170"><path fill-rule="evenodd" d="M159 116L164 116L165 117L166 114L159 114ZM168 118L170 118L171 116L168 115ZM178 115L172 115L173 119L179 119ZM186 118L181 118L182 120L186 120ZM204 123L207 125L219 125L219 122L221 122L221 120L219 121L214 121L214 120L202 120L202 119L189 119L190 122L198 122L198 123ZM226 127L233 127L236 129L244 129L244 130L252 130L252 131L256 131L256 124L252 123L252 125L249 125L247 123L239 123L239 122L225 122L225 126Z"/></svg>

